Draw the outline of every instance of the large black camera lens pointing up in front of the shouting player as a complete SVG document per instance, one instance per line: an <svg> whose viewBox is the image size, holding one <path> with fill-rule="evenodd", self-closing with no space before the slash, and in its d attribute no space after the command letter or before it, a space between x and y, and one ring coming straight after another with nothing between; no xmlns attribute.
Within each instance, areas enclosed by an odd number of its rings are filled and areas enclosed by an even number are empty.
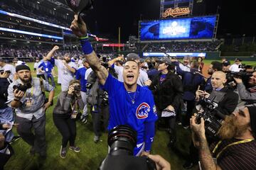
<svg viewBox="0 0 256 170"><path fill-rule="evenodd" d="M129 125L118 125L108 135L110 155L133 155L137 143L137 132Z"/></svg>

